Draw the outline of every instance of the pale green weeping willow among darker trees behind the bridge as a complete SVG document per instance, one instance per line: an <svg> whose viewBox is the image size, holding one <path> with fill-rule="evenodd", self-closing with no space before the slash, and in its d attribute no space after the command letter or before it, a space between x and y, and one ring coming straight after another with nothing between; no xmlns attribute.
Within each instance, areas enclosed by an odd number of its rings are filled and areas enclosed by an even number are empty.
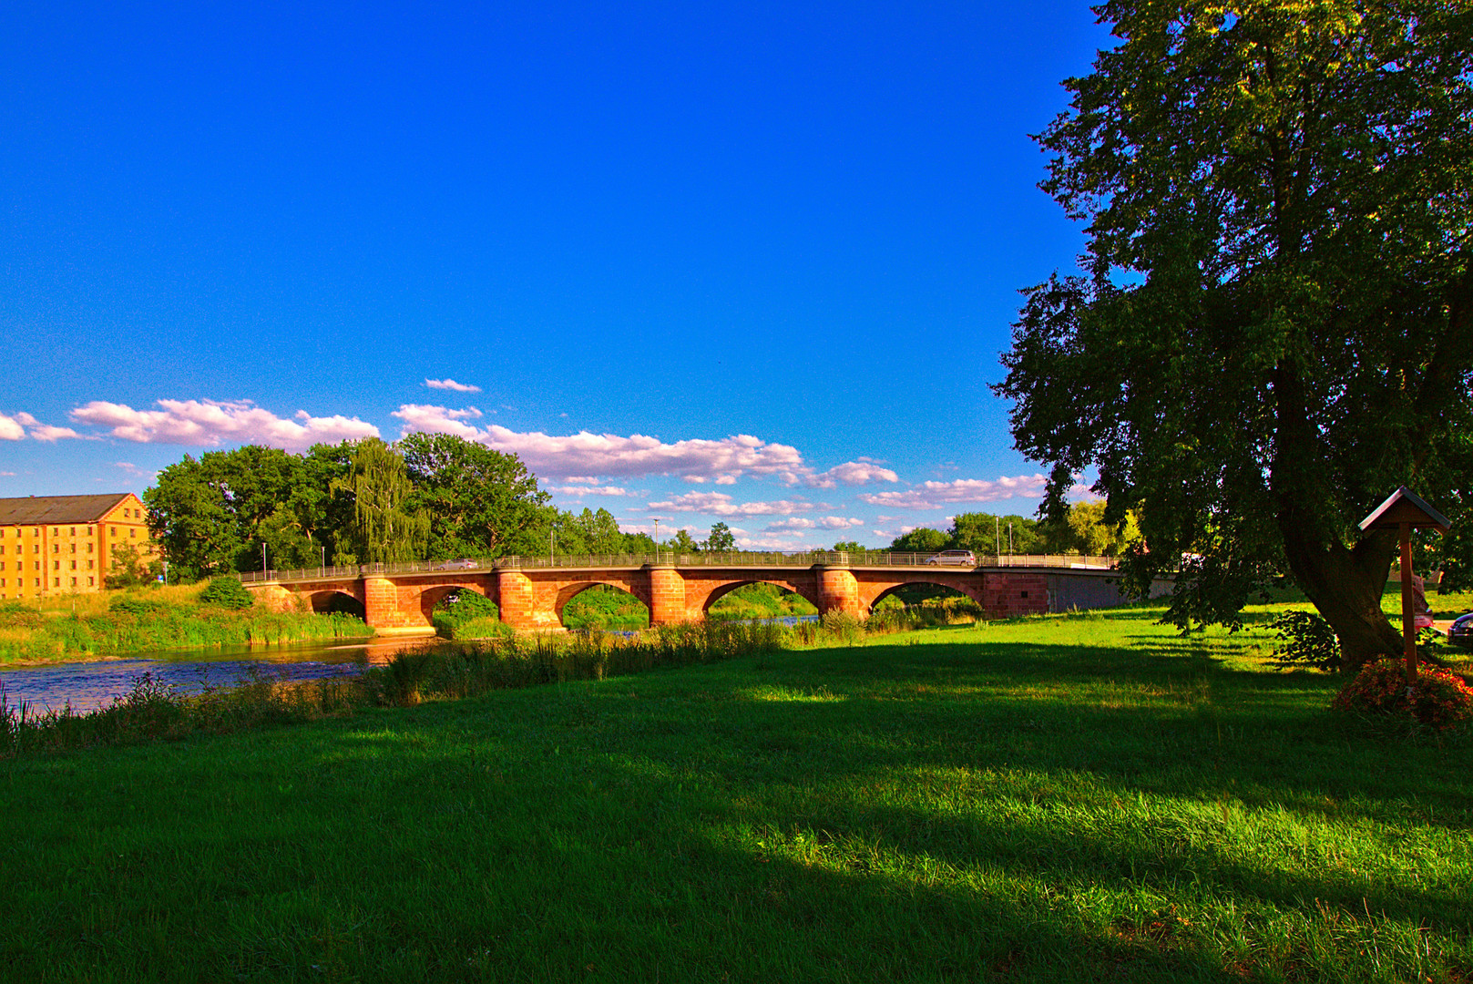
<svg viewBox="0 0 1473 984"><path fill-rule="evenodd" d="M430 516L409 505L414 483L404 458L377 437L359 440L354 448L352 473L333 482L333 491L354 498L354 545L367 564L420 560L430 533Z"/></svg>

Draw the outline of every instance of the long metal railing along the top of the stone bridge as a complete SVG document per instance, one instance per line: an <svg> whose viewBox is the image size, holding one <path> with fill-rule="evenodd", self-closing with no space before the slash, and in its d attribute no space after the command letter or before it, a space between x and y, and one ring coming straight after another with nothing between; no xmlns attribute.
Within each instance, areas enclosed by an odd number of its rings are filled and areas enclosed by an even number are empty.
<svg viewBox="0 0 1473 984"><path fill-rule="evenodd" d="M798 554L782 552L723 552L681 554L660 551L657 554L570 554L557 557L495 557L460 560L415 560L393 564L352 564L348 567L306 567L302 570L247 570L237 574L246 583L268 580L342 580L365 574L439 574L439 573L488 573L495 570L536 569L586 569L607 570L611 567L645 567L650 564L673 564L676 567L935 567L941 570L975 570L978 567L1081 567L1108 570L1115 566L1114 557L1080 557L1069 554L1003 554L1002 557L978 557L977 566L952 564L937 552L897 554L891 551L812 551Z"/></svg>

